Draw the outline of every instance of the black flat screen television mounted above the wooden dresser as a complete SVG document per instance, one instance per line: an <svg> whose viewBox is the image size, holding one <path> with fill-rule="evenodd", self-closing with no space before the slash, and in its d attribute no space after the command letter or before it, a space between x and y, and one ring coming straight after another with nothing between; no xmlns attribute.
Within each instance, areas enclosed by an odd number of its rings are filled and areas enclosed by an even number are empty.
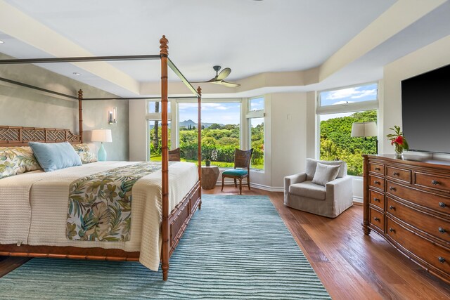
<svg viewBox="0 0 450 300"><path fill-rule="evenodd" d="M401 81L409 150L450 153L450 65Z"/></svg>

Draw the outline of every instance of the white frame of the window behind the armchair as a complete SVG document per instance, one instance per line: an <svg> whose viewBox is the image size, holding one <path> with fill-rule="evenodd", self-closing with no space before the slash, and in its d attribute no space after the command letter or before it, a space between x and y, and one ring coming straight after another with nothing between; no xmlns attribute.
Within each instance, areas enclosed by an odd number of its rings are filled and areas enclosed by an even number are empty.
<svg viewBox="0 0 450 300"><path fill-rule="evenodd" d="M321 93L327 92L327 91L339 91L341 89L349 89L354 88L358 86L367 86L370 84L376 84L377 85L377 96L375 100L367 100L357 103L343 103L340 105L325 105L321 106ZM376 110L377 111L377 126L378 120L380 117L380 110L379 110L379 103L380 103L380 81L369 81L364 82L361 84L352 84L351 86L341 86L335 89L325 89L321 91L316 91L316 149L315 149L315 155L316 159L320 159L321 157L321 115L332 115L332 114L338 114L338 113L347 113L347 112L364 112L367 110ZM379 133L379 131L378 131ZM377 139L379 141L379 136L377 136ZM348 175L352 176L353 178L362 178L362 176L355 176L355 175Z"/></svg>

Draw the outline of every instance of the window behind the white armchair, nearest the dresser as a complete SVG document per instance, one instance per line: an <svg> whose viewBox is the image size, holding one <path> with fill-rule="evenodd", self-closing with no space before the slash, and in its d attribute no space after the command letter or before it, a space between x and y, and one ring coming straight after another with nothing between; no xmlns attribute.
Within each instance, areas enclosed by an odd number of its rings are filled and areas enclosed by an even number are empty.
<svg viewBox="0 0 450 300"><path fill-rule="evenodd" d="M377 137L352 137L352 124L377 122L377 84L323 91L318 102L320 159L344 160L347 174L362 176L361 155L377 153Z"/></svg>

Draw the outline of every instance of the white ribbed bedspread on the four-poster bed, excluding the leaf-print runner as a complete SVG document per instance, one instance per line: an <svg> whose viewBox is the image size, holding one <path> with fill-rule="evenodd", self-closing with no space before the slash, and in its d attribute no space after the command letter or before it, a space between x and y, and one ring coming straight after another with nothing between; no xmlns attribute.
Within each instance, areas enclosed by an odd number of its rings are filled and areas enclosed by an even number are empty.
<svg viewBox="0 0 450 300"><path fill-rule="evenodd" d="M45 173L32 171L0 180L0 244L102 247L140 251L139 261L158 270L162 222L161 171L134 184L131 202L131 235L127 242L68 240L65 227L69 185L82 176L133 162L95 162ZM169 166L169 209L178 204L198 181L195 164Z"/></svg>

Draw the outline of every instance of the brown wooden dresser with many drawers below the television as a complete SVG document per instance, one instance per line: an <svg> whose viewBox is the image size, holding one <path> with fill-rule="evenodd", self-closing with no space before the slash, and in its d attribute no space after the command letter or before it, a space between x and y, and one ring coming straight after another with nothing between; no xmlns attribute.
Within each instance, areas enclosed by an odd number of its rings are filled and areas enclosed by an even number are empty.
<svg viewBox="0 0 450 300"><path fill-rule="evenodd" d="M364 234L450 282L450 162L364 156Z"/></svg>

